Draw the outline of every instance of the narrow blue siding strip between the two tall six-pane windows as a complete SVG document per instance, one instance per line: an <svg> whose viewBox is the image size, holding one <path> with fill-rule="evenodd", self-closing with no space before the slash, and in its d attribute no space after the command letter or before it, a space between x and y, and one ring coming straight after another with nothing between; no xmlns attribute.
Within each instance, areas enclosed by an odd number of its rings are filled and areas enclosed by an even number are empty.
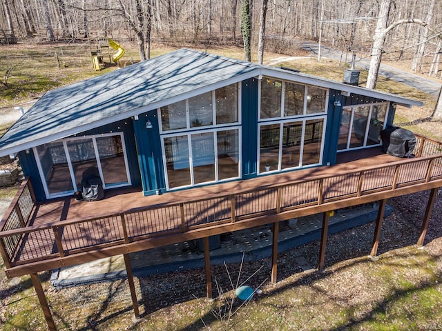
<svg viewBox="0 0 442 331"><path fill-rule="evenodd" d="M242 178L256 177L258 150L258 79L242 81Z"/></svg>

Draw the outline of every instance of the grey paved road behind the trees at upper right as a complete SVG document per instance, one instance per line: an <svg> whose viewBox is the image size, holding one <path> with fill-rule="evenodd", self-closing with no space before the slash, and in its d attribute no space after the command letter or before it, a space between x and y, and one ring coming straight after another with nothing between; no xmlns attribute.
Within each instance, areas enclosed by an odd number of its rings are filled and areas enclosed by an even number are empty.
<svg viewBox="0 0 442 331"><path fill-rule="evenodd" d="M309 52L313 52L314 54L318 54L318 43L314 42L305 42L302 43L302 49L308 50ZM328 47L321 47L321 56L327 57L329 59L339 60L340 59L340 51L334 50ZM352 55L349 54L348 61L352 60ZM356 67L362 68L364 70L368 70L369 68L369 59L361 59L356 54ZM387 66L385 64L381 64L381 68L379 69L379 74L381 76L392 79L393 81L398 81L399 83L403 83L407 86L411 86L412 88L416 88L425 93L432 94L435 97L439 95L439 90L441 90L442 84L432 79L427 79L425 77L418 76L416 74L412 74L410 72L406 72L404 70L394 68L392 66Z"/></svg>

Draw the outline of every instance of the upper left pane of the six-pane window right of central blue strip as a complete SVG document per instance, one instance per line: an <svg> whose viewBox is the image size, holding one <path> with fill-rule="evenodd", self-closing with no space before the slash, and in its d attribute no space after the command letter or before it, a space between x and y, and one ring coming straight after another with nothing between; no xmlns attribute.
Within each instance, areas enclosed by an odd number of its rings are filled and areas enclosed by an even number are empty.
<svg viewBox="0 0 442 331"><path fill-rule="evenodd" d="M281 116L281 90L282 81L261 80L261 119Z"/></svg>

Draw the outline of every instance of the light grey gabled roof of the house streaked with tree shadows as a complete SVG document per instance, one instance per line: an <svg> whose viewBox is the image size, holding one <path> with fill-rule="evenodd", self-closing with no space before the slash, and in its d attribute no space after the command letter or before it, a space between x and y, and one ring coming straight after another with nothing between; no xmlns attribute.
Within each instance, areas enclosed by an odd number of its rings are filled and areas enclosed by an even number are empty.
<svg viewBox="0 0 442 331"><path fill-rule="evenodd" d="M47 92L1 137L0 156L262 74L370 95L405 106L422 104L394 94L183 48Z"/></svg>

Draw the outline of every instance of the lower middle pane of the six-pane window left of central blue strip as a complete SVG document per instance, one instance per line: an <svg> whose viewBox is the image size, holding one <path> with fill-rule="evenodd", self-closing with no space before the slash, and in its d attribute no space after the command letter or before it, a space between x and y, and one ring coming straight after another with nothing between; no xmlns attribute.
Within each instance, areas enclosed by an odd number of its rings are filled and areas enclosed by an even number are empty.
<svg viewBox="0 0 442 331"><path fill-rule="evenodd" d="M193 179L195 184L215 181L215 147L213 133L191 135Z"/></svg>

